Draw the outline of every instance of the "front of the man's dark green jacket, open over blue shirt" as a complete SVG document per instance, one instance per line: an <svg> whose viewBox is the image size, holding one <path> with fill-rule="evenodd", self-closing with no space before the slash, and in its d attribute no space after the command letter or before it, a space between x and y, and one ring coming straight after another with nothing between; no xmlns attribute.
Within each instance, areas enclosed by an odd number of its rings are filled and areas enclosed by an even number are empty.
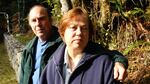
<svg viewBox="0 0 150 84"><path fill-rule="evenodd" d="M51 55L62 43L57 29L52 29L51 36L52 37L48 39L48 48L45 50L41 58L40 72L42 72ZM32 75L34 72L37 41L38 37L33 38L23 50L19 84L32 84Z"/></svg>

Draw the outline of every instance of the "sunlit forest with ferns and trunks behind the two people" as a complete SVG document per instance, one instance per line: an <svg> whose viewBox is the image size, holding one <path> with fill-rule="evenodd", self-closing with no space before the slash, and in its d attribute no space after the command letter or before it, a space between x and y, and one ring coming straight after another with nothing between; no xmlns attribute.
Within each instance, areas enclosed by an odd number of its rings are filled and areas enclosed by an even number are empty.
<svg viewBox="0 0 150 84"><path fill-rule="evenodd" d="M125 84L150 82L150 0L1 0L0 25L23 44L33 36L27 13L35 2L47 3L57 26L59 19L73 7L83 7L94 26L92 40L111 50L120 51L129 60Z"/></svg>

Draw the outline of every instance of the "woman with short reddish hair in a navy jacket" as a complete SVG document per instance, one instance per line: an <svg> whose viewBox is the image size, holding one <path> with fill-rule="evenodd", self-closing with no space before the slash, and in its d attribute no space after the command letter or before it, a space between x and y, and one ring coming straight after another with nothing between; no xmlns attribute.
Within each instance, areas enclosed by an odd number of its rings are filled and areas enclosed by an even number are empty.
<svg viewBox="0 0 150 84"><path fill-rule="evenodd" d="M59 24L64 43L42 73L41 84L112 84L113 62L103 47L91 42L90 21L84 9L73 8Z"/></svg>

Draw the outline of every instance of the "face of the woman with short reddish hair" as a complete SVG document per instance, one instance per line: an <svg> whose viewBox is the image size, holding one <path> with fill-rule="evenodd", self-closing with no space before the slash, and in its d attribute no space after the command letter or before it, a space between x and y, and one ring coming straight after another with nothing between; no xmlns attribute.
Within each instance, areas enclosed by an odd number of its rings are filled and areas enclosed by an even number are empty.
<svg viewBox="0 0 150 84"><path fill-rule="evenodd" d="M64 32L64 41L67 48L82 52L86 47L88 40L88 20L80 15L70 19Z"/></svg>

